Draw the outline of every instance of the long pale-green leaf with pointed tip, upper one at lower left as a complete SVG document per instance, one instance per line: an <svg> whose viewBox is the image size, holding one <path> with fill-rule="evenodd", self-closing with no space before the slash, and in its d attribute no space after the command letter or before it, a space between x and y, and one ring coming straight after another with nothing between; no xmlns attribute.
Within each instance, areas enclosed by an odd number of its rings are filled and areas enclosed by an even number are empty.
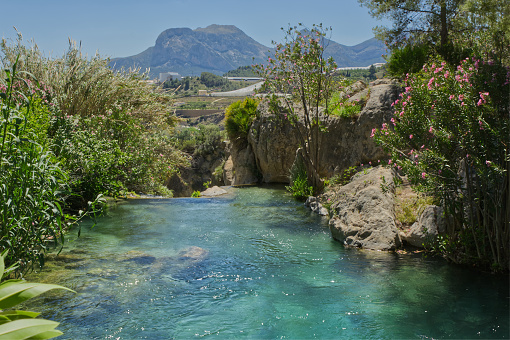
<svg viewBox="0 0 510 340"><path fill-rule="evenodd" d="M54 284L29 283L22 280L2 282L0 284L0 309L13 307L51 289L65 289L75 293L72 289Z"/></svg>

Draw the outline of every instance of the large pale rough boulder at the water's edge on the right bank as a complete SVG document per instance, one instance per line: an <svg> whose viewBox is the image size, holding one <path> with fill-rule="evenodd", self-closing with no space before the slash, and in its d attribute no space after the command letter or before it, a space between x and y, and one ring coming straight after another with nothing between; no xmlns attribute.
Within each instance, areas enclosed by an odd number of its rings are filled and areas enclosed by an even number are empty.
<svg viewBox="0 0 510 340"><path fill-rule="evenodd" d="M381 166L366 172L334 193L331 234L349 246L394 250L401 245L395 224L394 173Z"/></svg>

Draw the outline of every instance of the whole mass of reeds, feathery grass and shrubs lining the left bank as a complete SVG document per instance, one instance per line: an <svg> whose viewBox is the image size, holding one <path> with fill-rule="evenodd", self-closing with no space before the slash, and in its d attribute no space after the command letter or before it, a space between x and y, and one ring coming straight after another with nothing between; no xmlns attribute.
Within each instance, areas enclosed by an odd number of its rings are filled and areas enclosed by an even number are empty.
<svg viewBox="0 0 510 340"><path fill-rule="evenodd" d="M171 142L171 100L135 72L114 72L75 44L61 58L1 44L0 251L23 275L63 242L102 195L169 195L186 163Z"/></svg>

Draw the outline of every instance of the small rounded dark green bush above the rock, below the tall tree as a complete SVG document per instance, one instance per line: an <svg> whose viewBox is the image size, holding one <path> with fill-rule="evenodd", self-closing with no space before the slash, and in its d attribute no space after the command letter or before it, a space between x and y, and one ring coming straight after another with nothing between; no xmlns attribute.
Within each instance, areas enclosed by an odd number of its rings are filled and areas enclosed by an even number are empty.
<svg viewBox="0 0 510 340"><path fill-rule="evenodd" d="M393 49L387 62L388 73L396 78L419 72L429 57L427 44L406 45Z"/></svg>

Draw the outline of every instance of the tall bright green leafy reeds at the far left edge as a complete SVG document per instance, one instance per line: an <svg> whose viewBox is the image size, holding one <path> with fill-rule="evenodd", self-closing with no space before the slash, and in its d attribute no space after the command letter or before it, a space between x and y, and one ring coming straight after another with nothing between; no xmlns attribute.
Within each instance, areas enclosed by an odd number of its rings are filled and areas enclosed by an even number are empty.
<svg viewBox="0 0 510 340"><path fill-rule="evenodd" d="M22 275L44 262L46 250L63 241L63 231L77 217L64 211L70 194L67 173L34 140L44 140L34 131L47 121L36 82L20 78L17 63L5 76L0 83L0 249L10 250L7 264L17 263Z"/></svg>

